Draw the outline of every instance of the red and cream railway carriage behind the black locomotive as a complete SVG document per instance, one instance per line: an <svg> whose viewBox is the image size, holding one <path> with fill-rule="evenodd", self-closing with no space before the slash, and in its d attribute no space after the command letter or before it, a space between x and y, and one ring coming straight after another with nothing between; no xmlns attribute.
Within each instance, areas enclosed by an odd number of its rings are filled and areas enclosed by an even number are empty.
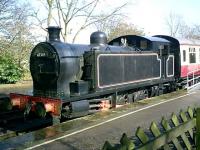
<svg viewBox="0 0 200 150"><path fill-rule="evenodd" d="M200 75L200 40L179 39L181 54L181 77L195 72Z"/></svg>

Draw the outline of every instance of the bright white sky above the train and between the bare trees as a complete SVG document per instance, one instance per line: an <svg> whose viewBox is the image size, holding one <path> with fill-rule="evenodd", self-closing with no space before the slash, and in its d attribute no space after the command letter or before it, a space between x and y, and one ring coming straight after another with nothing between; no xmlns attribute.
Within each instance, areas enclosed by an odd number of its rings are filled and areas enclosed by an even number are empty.
<svg viewBox="0 0 200 150"><path fill-rule="evenodd" d="M100 11L119 6L126 1L130 4L123 10L127 16L125 21L143 29L148 36L169 33L166 18L170 12L181 16L187 25L200 25L200 0L103 0ZM36 3L34 5L38 6ZM83 31L76 43L88 44L90 34L95 30L90 27Z"/></svg>

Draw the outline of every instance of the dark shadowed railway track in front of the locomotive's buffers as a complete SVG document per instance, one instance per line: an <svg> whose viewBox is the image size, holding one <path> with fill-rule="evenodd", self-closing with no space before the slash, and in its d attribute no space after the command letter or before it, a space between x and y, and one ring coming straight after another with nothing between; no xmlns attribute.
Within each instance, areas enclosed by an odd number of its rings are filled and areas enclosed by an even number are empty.
<svg viewBox="0 0 200 150"><path fill-rule="evenodd" d="M52 125L52 118L24 118L21 111L0 114L0 141Z"/></svg>

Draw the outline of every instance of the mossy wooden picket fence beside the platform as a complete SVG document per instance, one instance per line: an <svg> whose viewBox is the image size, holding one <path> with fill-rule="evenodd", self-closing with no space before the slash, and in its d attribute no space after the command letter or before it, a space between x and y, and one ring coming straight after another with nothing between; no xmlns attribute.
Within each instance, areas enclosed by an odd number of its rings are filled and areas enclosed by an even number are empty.
<svg viewBox="0 0 200 150"><path fill-rule="evenodd" d="M155 149L197 149L200 150L200 108L188 107L178 115L172 113L167 120L152 122L149 129L138 127L135 136L124 133L119 144L105 142L103 150L155 150Z"/></svg>

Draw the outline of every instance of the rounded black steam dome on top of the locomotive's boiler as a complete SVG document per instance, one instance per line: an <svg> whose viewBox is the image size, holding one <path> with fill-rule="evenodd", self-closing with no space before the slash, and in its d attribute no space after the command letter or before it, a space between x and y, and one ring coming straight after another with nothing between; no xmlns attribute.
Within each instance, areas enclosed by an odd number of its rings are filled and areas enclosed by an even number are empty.
<svg viewBox="0 0 200 150"><path fill-rule="evenodd" d="M104 32L97 31L93 32L90 36L90 44L91 45L106 45L107 44L107 36Z"/></svg>

